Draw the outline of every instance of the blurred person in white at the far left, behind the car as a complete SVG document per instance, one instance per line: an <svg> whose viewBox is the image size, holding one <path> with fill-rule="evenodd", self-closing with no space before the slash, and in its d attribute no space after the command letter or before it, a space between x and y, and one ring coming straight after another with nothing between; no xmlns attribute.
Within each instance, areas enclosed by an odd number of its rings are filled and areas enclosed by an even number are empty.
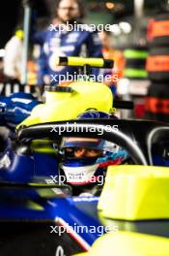
<svg viewBox="0 0 169 256"><path fill-rule="evenodd" d="M17 29L5 46L4 75L6 80L20 81L23 48L23 30Z"/></svg>

